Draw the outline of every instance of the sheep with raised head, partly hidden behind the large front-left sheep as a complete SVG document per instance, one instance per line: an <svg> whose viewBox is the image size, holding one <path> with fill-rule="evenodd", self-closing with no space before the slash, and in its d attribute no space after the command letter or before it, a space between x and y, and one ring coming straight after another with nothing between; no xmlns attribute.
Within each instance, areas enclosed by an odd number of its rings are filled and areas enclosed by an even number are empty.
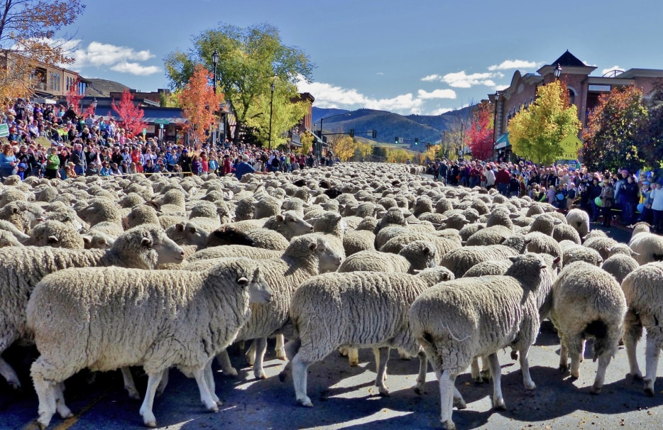
<svg viewBox="0 0 663 430"><path fill-rule="evenodd" d="M275 292L275 300L270 304L251 307L251 319L239 331L236 341L257 339L253 375L256 379L265 379L263 358L267 338L278 332L287 321L293 292L310 277L338 269L341 257L329 246L327 236L312 233L294 238L278 258L256 260L256 265ZM277 355L285 357L285 351L277 351ZM226 351L219 355L218 360L224 373L237 374Z"/></svg>

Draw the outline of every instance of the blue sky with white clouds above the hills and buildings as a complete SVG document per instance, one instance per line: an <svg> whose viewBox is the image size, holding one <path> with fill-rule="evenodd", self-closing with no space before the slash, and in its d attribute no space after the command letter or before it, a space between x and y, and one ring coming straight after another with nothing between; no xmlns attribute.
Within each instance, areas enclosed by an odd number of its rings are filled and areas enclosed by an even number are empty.
<svg viewBox="0 0 663 430"><path fill-rule="evenodd" d="M663 1L84 0L70 68L168 87L163 57L219 23L276 26L316 65L314 106L437 115L507 87L565 50L597 70L663 69Z"/></svg>

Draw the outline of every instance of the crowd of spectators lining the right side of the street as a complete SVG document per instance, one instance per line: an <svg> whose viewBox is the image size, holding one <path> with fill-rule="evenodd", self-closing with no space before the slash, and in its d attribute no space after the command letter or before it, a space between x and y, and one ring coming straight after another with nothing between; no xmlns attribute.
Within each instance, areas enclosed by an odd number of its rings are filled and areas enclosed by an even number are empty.
<svg viewBox="0 0 663 430"><path fill-rule="evenodd" d="M429 164L429 174L446 184L495 188L506 197L529 196L566 211L573 206L588 212L592 222L623 226L646 221L663 233L663 177L651 172L637 175L618 172L588 172L585 166L539 166L519 162L478 160L437 160Z"/></svg>

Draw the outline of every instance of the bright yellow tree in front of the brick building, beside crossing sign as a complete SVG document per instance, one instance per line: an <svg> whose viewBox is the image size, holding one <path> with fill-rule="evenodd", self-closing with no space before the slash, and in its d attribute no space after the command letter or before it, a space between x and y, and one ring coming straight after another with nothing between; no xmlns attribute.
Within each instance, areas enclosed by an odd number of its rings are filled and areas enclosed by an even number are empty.
<svg viewBox="0 0 663 430"><path fill-rule="evenodd" d="M562 154L559 142L577 135L581 126L576 105L569 102L566 84L556 80L539 87L535 103L511 119L509 140L514 154L550 164Z"/></svg>

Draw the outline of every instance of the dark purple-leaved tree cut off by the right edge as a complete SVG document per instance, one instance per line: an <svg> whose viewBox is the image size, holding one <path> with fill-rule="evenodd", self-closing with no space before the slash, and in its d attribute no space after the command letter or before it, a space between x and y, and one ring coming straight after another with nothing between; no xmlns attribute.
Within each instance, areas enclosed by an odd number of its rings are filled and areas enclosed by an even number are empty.
<svg viewBox="0 0 663 430"><path fill-rule="evenodd" d="M663 167L663 79L656 79L653 88L651 97L644 102L647 119L640 127L639 140L642 156L647 161L647 165L661 168Z"/></svg>

